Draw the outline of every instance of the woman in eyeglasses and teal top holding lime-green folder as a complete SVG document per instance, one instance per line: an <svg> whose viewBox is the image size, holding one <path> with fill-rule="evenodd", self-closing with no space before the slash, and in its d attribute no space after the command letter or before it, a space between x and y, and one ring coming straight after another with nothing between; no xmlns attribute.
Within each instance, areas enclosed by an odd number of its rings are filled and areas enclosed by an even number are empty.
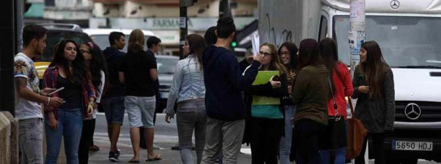
<svg viewBox="0 0 441 164"><path fill-rule="evenodd" d="M277 154L280 138L284 131L284 111L279 104L256 105L253 96L267 96L281 98L283 90L281 83L286 70L277 55L274 45L264 43L260 46L257 57L262 58L262 67L259 71L276 70L282 78L273 76L266 84L253 85L245 93L246 114L244 141L251 145L252 164L277 164Z"/></svg>

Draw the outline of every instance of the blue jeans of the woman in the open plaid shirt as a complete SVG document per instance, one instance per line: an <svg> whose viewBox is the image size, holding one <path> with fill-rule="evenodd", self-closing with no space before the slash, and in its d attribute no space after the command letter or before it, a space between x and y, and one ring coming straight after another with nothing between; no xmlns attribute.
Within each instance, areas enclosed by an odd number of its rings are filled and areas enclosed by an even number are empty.
<svg viewBox="0 0 441 164"><path fill-rule="evenodd" d="M83 127L82 110L80 108L72 110L58 109L57 129L51 129L49 119L45 119L46 164L57 164L62 137L64 137L67 164L78 164L78 146Z"/></svg>

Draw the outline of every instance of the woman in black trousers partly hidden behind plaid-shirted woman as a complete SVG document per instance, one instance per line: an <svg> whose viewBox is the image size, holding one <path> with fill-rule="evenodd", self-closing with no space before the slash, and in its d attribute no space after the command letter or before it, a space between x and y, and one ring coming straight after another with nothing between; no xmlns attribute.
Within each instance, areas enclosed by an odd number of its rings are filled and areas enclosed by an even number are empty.
<svg viewBox="0 0 441 164"><path fill-rule="evenodd" d="M107 71L104 56L98 45L92 42L86 42L80 46L80 51L84 57L86 69L91 74L92 84L97 91L97 105L95 106L92 117L88 117L83 121L83 130L81 133L81 141L78 149L78 159L80 164L88 164L89 161L89 147L93 145L95 123L97 118L97 107L101 100L101 95L104 90L105 72Z"/></svg>

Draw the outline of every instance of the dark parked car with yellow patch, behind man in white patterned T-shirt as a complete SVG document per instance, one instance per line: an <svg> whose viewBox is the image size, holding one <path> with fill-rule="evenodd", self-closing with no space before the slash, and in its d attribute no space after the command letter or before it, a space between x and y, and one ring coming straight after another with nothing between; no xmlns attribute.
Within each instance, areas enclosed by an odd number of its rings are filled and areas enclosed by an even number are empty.
<svg viewBox="0 0 441 164"><path fill-rule="evenodd" d="M81 45L84 42L92 42L92 39L83 32L83 29L77 24L67 23L41 23L39 24L48 29L47 47L40 58L35 59L35 68L38 77L43 78L45 70L48 68L53 58L53 48L63 39L71 39L76 44Z"/></svg>

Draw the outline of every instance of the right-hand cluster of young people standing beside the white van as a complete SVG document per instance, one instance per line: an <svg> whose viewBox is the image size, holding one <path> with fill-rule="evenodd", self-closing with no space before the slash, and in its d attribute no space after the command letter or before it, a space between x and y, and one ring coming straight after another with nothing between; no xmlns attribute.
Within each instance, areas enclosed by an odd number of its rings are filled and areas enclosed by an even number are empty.
<svg viewBox="0 0 441 164"><path fill-rule="evenodd" d="M376 42L362 45L352 80L330 38L305 39L298 48L264 43L256 56L238 62L229 50L234 35L232 19L221 18L204 37L185 38L186 59L175 67L165 118L170 122L176 115L184 164L194 163L193 131L197 164L236 164L243 143L251 146L252 164L289 164L290 154L296 164L344 164L351 96L358 98L354 115L373 137L375 163L385 163L384 133L394 121L393 74ZM252 85L259 71L280 76ZM255 104L255 96L279 103ZM357 164L364 164L365 149Z"/></svg>

